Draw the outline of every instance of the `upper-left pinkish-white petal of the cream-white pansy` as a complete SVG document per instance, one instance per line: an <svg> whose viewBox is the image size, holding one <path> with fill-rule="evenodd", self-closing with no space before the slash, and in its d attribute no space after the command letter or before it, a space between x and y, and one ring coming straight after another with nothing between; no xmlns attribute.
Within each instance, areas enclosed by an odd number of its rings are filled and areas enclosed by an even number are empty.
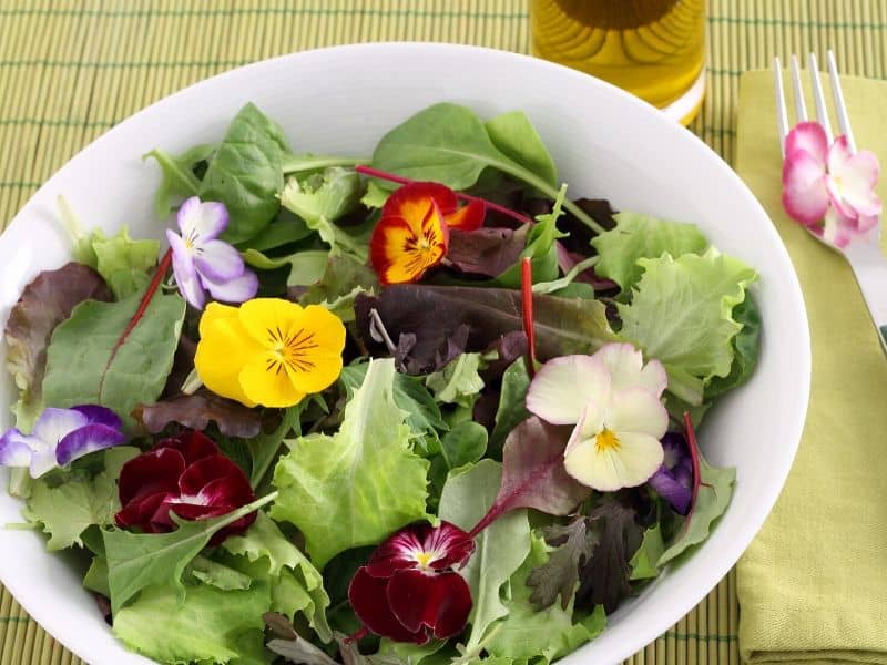
<svg viewBox="0 0 887 665"><path fill-rule="evenodd" d="M589 402L604 405L610 372L594 356L561 356L546 362L527 390L527 409L552 424L579 422Z"/></svg>

